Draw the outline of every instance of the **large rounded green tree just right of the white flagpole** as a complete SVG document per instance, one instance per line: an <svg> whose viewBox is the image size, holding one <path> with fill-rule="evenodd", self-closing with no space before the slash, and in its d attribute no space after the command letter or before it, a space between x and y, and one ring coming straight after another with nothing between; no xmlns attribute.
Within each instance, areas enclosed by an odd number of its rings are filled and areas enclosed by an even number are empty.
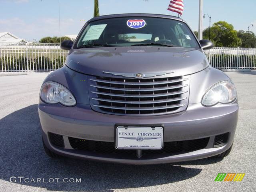
<svg viewBox="0 0 256 192"><path fill-rule="evenodd" d="M203 31L203 38L209 38L209 28ZM242 40L238 38L237 31L232 24L225 21L219 21L212 25L210 40L216 47L237 47L241 46Z"/></svg>

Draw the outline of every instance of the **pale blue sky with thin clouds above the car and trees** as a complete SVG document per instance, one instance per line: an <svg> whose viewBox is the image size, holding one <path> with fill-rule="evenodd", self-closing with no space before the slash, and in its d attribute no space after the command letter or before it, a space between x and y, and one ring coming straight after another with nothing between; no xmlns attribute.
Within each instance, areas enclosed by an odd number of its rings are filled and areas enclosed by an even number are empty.
<svg viewBox="0 0 256 192"><path fill-rule="evenodd" d="M155 13L177 16L167 10L170 0L99 0L100 15L118 13ZM198 30L199 0L183 0L181 16L192 30ZM59 36L58 0L0 0L0 32L38 41ZM203 13L212 16L212 24L224 20L236 30L256 34L256 0L204 0ZM60 0L60 34L78 34L86 20L93 17L94 0ZM83 20L83 21L80 21ZM85 20L85 21L84 21ZM203 27L209 26L206 16ZM34 40L33 40L34 39Z"/></svg>

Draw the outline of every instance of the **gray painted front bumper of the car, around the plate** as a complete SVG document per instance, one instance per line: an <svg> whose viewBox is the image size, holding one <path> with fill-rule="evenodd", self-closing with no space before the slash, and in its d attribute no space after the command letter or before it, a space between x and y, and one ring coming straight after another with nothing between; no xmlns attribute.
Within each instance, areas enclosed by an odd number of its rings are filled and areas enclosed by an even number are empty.
<svg viewBox="0 0 256 192"><path fill-rule="evenodd" d="M49 105L40 101L38 105L42 136L47 148L53 152L75 158L102 160L128 164L160 164L207 158L226 151L233 143L238 119L238 104L218 104L204 107L189 104L186 111L162 116L116 116L91 110L90 105L77 104L65 107L61 104ZM69 137L101 142L114 142L117 125L163 126L164 142L209 138L208 144L192 152L162 154L157 156L134 156L94 153L77 150L70 145ZM63 136L64 148L54 146L48 133ZM214 148L215 136L228 133L227 142Z"/></svg>

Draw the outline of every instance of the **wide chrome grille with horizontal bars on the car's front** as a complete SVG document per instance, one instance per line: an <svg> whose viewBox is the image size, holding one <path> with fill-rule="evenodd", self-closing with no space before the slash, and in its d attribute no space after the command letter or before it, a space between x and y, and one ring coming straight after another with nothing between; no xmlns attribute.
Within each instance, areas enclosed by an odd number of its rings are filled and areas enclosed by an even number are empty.
<svg viewBox="0 0 256 192"><path fill-rule="evenodd" d="M189 76L170 78L89 78L93 110L147 116L180 112L188 104Z"/></svg>

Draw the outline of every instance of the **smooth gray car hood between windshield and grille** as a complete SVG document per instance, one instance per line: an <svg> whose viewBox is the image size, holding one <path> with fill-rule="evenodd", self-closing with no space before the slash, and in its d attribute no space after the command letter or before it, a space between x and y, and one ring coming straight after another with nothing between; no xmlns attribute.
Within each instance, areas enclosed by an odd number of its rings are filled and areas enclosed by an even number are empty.
<svg viewBox="0 0 256 192"><path fill-rule="evenodd" d="M113 72L166 73L170 77L201 71L209 62L201 49L150 46L75 49L70 51L66 65L96 76L113 76L104 73Z"/></svg>

